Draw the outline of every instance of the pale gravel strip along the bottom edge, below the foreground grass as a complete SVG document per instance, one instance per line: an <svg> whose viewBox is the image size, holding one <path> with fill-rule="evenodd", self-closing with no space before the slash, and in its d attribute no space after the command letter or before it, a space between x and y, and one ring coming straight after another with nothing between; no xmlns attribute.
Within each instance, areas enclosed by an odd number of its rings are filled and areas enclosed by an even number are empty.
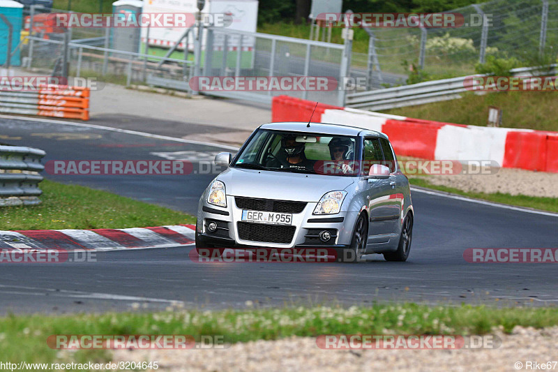
<svg viewBox="0 0 558 372"><path fill-rule="evenodd" d="M220 350L118 350L113 362L157 361L158 371L176 372L349 372L527 371L527 361L558 360L558 327L515 327L512 334L498 330L494 334L502 345L492 350L322 350L313 337L290 337L236 343ZM522 369L516 369L515 362L522 362Z"/></svg>

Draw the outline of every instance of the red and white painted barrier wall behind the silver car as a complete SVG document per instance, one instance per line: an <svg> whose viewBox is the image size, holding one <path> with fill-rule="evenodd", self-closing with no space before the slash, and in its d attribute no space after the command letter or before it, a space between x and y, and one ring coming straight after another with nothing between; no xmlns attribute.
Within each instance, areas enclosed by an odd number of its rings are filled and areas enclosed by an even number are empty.
<svg viewBox="0 0 558 372"><path fill-rule="evenodd" d="M272 121L308 121L315 104L289 96L273 97ZM465 126L321 104L312 121L385 133L401 156L495 161L504 168L558 172L558 132Z"/></svg>

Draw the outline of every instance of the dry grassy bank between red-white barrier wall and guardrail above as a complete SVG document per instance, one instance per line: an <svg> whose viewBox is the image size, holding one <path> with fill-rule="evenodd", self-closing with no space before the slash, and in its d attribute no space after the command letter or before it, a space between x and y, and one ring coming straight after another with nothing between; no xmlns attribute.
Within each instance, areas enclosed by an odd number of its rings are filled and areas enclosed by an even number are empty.
<svg viewBox="0 0 558 372"><path fill-rule="evenodd" d="M463 98L426 105L384 110L388 114L445 121L448 123L486 126L488 106L502 109L502 126L538 131L558 131L556 106L558 95L551 92L504 92L483 96L468 93Z"/></svg>

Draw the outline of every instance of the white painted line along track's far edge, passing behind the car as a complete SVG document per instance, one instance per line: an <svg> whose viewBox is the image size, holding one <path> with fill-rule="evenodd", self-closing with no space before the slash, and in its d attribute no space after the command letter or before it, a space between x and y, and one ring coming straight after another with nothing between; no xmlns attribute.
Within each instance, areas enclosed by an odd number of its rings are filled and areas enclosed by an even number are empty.
<svg viewBox="0 0 558 372"><path fill-rule="evenodd" d="M63 124L63 125L70 125L70 126L82 126L82 127L86 127L86 128L97 128L97 129L103 129L105 131L128 133L128 134L132 134L132 135L141 135L143 137L157 138L159 140L192 143L192 144L204 144L206 146L220 147L222 149L229 149L229 150L238 151L237 147L227 146L226 144L215 144L215 143L211 143L211 142L184 140L183 138L169 137L167 135L156 135L156 134L151 134L151 133L128 131L127 129L111 128L110 126L98 126L96 124L73 123L73 122L68 122L68 121L42 119L42 118L34 118L34 117L33 118L14 117L14 116L11 116L11 115L3 115L3 114L0 114L0 119L38 121L38 122L43 122L43 123ZM465 198L465 197L460 196L460 195L453 195L453 194L442 193L442 192L438 192L438 191L428 191L428 190L423 190L421 188L415 188L415 187L412 187L411 190L415 191L415 192L418 192L418 193L425 193L425 194L429 194L429 195L442 196L444 198L450 198L450 199L453 199L453 200L461 200L461 201L464 201L464 202L472 202L472 203L477 203L477 204L488 205L489 207L510 209L512 211L522 211L522 212L530 213L530 214L539 214L541 216L558 217L558 214L552 213L552 212L536 211L536 210L526 209L526 208L521 208L521 207L513 207L511 205L506 205L506 204L498 204L498 203L493 203L493 202L486 202L486 201L483 201L483 200Z"/></svg>

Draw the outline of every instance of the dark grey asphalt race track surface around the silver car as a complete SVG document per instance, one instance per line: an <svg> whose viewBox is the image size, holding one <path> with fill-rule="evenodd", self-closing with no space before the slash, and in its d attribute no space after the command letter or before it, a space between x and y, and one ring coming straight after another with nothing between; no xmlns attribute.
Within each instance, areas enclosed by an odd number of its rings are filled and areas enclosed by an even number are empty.
<svg viewBox="0 0 558 372"><path fill-rule="evenodd" d="M200 171L199 161L223 149L27 119L0 118L0 135L0 142L44 149L45 162L161 160L179 155ZM45 177L195 213L199 195L215 177L199 173ZM188 247L96 253L97 262L88 263L3 264L0 313L124 311L134 303L161 309L174 302L196 308L243 308L248 300L262 306L377 301L558 304L555 265L471 264L463 259L466 248L556 248L558 216L416 191L412 195L416 217L408 262L384 262L382 256L372 255L369 262L358 265L197 263L188 258L193 249Z"/></svg>

